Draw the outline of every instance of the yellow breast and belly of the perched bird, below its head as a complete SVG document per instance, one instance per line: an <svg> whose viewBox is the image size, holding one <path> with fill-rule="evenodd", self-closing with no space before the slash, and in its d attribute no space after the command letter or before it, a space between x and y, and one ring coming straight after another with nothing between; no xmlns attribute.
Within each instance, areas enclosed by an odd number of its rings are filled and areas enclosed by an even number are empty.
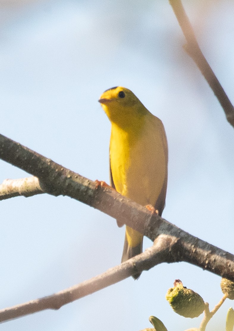
<svg viewBox="0 0 234 331"><path fill-rule="evenodd" d="M167 169L162 122L150 114L139 127L123 130L112 123L110 167L116 190L141 205L155 205Z"/></svg>

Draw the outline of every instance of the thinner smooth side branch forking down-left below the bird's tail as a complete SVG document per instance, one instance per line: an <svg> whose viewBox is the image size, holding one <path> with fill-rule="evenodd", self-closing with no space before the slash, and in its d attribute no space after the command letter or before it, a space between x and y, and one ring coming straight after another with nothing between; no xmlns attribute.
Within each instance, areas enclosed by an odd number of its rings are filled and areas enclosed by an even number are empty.
<svg viewBox="0 0 234 331"><path fill-rule="evenodd" d="M150 269L162 262L173 262L170 253L174 238L160 236L154 245L144 253L120 265L108 269L106 272L86 280L78 285L69 287L53 295L32 300L17 306L0 310L0 322L18 318L45 309L59 309L65 304L97 292L107 286L117 283L135 272L135 268Z"/></svg>

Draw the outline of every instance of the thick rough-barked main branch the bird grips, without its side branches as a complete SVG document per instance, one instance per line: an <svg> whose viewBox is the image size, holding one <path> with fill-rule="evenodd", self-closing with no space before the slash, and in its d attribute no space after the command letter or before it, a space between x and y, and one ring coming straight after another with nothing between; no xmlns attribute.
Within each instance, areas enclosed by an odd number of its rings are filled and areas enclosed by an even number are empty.
<svg viewBox="0 0 234 331"><path fill-rule="evenodd" d="M222 277L234 280L234 256L200 240L145 207L123 197L114 190L96 187L91 180L66 169L0 135L0 158L39 178L40 187L53 195L67 195L91 207L123 220L152 241L160 234L176 238L171 247L174 261L186 261ZM144 267L147 270L147 265ZM139 268L139 271L143 269ZM135 274L133 272L132 274Z"/></svg>

